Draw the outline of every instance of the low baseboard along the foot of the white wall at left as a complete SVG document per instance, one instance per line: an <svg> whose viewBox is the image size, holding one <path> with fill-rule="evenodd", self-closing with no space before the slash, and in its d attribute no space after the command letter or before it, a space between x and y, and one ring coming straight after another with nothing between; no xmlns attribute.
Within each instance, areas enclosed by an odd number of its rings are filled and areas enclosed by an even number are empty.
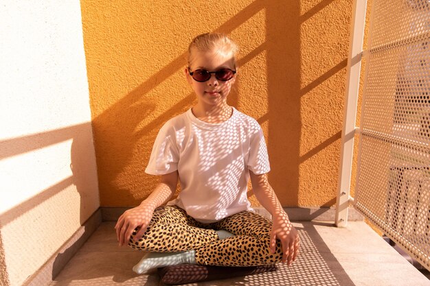
<svg viewBox="0 0 430 286"><path fill-rule="evenodd" d="M50 285L54 278L63 270L69 260L80 250L84 245L85 241L91 237L95 230L102 223L102 211L100 208L97 209L84 222L76 233L67 240L63 246L54 254L52 257L34 273L30 278L25 281L24 286L45 286Z"/></svg>

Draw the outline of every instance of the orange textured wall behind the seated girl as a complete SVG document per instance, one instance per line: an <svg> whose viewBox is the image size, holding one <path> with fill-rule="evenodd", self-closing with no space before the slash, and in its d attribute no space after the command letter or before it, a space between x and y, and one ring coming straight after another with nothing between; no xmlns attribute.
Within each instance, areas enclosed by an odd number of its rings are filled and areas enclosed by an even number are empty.
<svg viewBox="0 0 430 286"><path fill-rule="evenodd" d="M155 136L194 102L185 51L210 31L240 46L229 104L262 125L282 204L335 204L351 2L82 0L102 206L152 191Z"/></svg>

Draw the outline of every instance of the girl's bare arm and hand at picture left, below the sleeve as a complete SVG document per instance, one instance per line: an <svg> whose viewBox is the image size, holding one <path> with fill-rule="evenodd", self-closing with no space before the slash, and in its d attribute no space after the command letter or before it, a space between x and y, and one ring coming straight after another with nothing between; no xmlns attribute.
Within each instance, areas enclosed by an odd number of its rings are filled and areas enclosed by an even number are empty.
<svg viewBox="0 0 430 286"><path fill-rule="evenodd" d="M155 208L166 204L174 195L178 183L178 171L161 175L160 182L155 190L139 206L125 211L117 221L115 230L120 246L128 243L135 228L140 227L134 237L138 241L144 235L146 228L152 218Z"/></svg>

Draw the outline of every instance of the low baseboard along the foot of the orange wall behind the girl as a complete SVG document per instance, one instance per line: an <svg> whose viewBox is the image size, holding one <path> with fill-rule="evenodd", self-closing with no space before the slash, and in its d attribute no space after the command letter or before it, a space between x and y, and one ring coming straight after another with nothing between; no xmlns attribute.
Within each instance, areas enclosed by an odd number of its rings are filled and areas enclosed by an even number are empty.
<svg viewBox="0 0 430 286"><path fill-rule="evenodd" d="M120 215L128 209L124 207L101 207L103 222L116 222ZM254 209L256 213L264 217L271 217L270 213L263 207L255 207ZM335 208L284 208L284 210L293 222L335 222ZM349 208L348 220L363 221L363 215L354 208Z"/></svg>

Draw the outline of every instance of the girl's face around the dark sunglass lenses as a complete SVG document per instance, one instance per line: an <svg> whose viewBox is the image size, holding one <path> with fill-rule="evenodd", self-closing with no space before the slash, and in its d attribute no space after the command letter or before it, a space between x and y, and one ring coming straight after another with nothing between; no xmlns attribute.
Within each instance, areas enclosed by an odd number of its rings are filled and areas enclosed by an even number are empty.
<svg viewBox="0 0 430 286"><path fill-rule="evenodd" d="M190 66L191 72L196 71L196 69L205 69L206 71L218 71L219 69L236 70L234 59L231 55L216 54L212 51L193 51L193 56L194 60ZM197 95L199 104L211 107L227 104L227 95L229 95L231 86L236 80L236 75L233 75L231 80L224 82L216 79L215 74L211 73L211 78L206 82L197 82L190 75L190 71L185 69L185 74L194 93Z"/></svg>

